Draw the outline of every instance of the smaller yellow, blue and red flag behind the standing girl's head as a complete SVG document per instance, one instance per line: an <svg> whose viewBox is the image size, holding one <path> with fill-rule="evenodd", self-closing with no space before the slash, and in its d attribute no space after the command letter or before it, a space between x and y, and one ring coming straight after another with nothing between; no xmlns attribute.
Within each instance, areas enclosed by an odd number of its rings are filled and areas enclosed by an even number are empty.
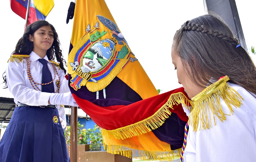
<svg viewBox="0 0 256 162"><path fill-rule="evenodd" d="M26 11L28 7L28 0L10 0L11 9L17 15L26 19ZM54 6L53 0L30 0L30 9L28 22L29 24L37 20L45 20Z"/></svg>

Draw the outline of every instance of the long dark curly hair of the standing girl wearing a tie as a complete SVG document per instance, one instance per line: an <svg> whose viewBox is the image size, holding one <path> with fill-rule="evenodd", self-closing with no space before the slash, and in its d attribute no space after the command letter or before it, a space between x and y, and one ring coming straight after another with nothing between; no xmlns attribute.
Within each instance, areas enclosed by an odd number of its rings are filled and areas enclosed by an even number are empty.
<svg viewBox="0 0 256 162"><path fill-rule="evenodd" d="M57 62L59 63L60 68L66 73L63 62L65 62L65 66L67 66L67 63L64 60L63 55L61 53L62 51L59 47L60 42L59 42L58 34L57 34L55 28L53 27L53 25L51 25L49 22L47 22L45 20L38 20L26 27L24 34L18 40L15 50L12 52L12 54L28 54L29 55L34 49L33 42L31 42L28 39L29 35L30 34L34 35L34 32L43 26L51 27L51 30L53 31L53 39L54 39L51 48L48 49L46 52L46 56L51 61L54 61L56 58ZM3 73L3 79L4 79L3 83L5 83L4 88L7 88L5 72Z"/></svg>

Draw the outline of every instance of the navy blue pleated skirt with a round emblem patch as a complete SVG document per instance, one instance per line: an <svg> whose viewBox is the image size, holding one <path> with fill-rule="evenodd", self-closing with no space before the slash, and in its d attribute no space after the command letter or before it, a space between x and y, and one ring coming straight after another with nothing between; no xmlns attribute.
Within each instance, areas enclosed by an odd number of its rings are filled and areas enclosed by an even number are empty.
<svg viewBox="0 0 256 162"><path fill-rule="evenodd" d="M0 162L23 161L70 161L56 108L15 108L0 141Z"/></svg>

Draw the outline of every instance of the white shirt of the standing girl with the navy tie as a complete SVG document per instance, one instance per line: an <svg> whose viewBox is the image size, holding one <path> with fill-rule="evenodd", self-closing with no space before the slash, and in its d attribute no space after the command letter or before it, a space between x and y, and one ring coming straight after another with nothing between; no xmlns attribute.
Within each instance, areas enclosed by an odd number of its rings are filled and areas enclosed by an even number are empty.
<svg viewBox="0 0 256 162"><path fill-rule="evenodd" d="M29 59L31 60L30 64L30 72L34 82L42 83L42 67L38 59L38 56L35 52L30 53ZM48 68L51 71L52 78L54 79L54 70L49 62L47 56L44 57L45 60L48 61ZM68 80L65 78L65 73L62 69L59 69L56 66L57 72L55 80L53 81L54 90L57 91L56 81L60 78L60 89L59 93L70 92L68 87ZM30 106L47 106L48 100L50 98L51 93L41 92L36 90L32 87L28 75L27 75L27 65L26 60L23 59L23 62L8 62L8 67L5 71L6 79L7 79L7 86L9 91L14 96L14 102L18 104L18 102L22 104L27 104ZM34 85L34 83L32 83ZM37 85L37 87L41 90L41 85Z"/></svg>

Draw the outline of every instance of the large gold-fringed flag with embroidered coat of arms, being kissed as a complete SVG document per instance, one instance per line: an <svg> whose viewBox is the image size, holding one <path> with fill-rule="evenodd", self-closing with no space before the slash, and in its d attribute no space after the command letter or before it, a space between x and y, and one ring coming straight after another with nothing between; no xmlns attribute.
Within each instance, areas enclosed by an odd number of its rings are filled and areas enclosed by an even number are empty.
<svg viewBox="0 0 256 162"><path fill-rule="evenodd" d="M68 79L79 107L102 128L108 152L145 160L180 155L184 89L158 94L104 0L76 1Z"/></svg>

